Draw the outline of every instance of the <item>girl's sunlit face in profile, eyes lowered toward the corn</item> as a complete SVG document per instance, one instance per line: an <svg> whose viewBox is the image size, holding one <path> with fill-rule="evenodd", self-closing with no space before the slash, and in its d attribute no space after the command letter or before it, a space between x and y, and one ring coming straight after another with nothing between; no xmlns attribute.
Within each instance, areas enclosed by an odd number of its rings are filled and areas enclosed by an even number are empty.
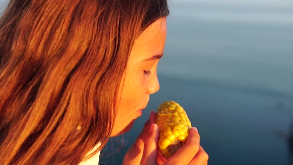
<svg viewBox="0 0 293 165"><path fill-rule="evenodd" d="M149 95L159 90L157 64L163 55L167 33L166 17L152 23L134 43L129 57L118 111L111 136L129 131L147 107ZM119 97L118 97L119 98Z"/></svg>

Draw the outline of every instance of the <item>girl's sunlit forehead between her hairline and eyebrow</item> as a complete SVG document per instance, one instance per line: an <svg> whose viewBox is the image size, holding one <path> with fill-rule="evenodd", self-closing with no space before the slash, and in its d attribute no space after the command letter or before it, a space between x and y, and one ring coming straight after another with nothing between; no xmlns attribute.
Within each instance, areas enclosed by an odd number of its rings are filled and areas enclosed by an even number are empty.
<svg viewBox="0 0 293 165"><path fill-rule="evenodd" d="M146 58L163 54L166 33L166 18L156 20L135 40L130 58Z"/></svg>

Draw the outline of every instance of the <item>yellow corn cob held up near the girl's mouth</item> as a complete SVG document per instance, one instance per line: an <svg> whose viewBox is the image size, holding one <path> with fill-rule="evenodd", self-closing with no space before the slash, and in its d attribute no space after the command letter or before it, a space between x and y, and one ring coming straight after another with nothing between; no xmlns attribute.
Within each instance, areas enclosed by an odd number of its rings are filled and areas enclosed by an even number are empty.
<svg viewBox="0 0 293 165"><path fill-rule="evenodd" d="M185 144L191 123L184 109L174 101L165 101L158 107L155 122L159 127L158 150L168 159Z"/></svg>

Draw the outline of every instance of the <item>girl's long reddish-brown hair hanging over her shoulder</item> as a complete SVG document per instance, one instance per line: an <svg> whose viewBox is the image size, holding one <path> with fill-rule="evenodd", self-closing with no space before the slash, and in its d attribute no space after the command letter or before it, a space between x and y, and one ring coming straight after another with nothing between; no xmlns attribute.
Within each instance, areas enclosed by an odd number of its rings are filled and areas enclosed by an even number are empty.
<svg viewBox="0 0 293 165"><path fill-rule="evenodd" d="M76 165L101 150L134 40L168 13L166 0L11 0L0 18L0 165Z"/></svg>

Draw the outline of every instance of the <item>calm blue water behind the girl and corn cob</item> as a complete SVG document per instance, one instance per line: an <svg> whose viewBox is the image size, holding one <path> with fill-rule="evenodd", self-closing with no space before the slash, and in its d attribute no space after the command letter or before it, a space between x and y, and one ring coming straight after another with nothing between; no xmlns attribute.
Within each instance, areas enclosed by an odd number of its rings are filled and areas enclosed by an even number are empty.
<svg viewBox="0 0 293 165"><path fill-rule="evenodd" d="M160 91L100 164L121 164L149 111L175 100L198 128L209 165L289 165L293 1L171 0L170 8Z"/></svg>

